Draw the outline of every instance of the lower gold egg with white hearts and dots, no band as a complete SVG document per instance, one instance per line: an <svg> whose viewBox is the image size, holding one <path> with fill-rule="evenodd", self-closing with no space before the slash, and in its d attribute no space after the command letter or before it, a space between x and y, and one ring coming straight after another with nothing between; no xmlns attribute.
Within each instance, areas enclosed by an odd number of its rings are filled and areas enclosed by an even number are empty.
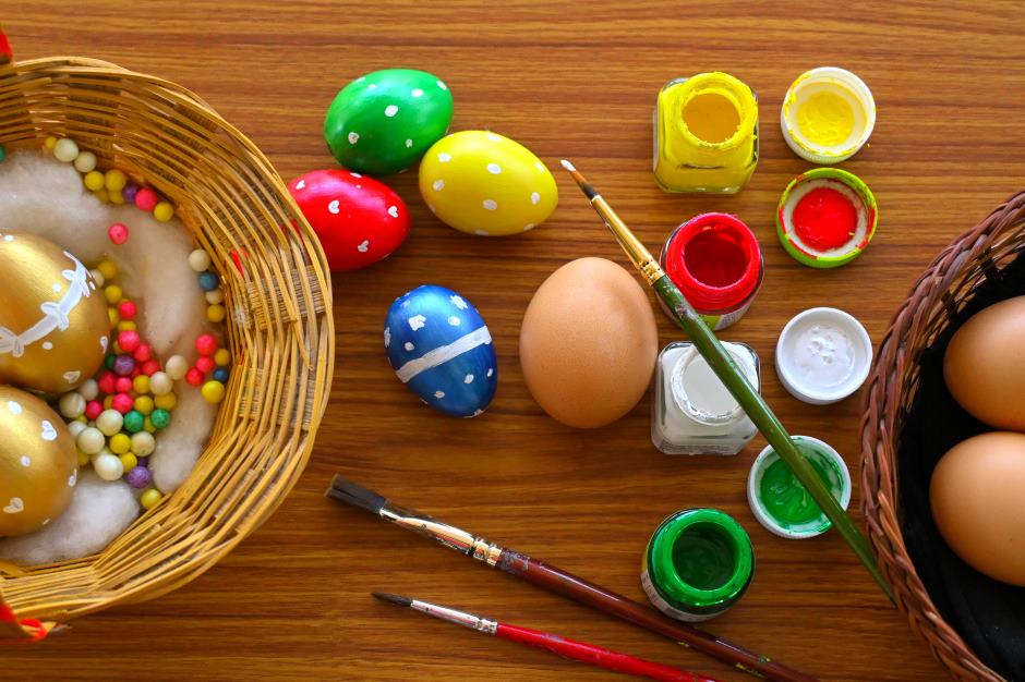
<svg viewBox="0 0 1025 682"><path fill-rule="evenodd" d="M71 503L75 441L40 399L0 386L0 537L38 531Z"/></svg>

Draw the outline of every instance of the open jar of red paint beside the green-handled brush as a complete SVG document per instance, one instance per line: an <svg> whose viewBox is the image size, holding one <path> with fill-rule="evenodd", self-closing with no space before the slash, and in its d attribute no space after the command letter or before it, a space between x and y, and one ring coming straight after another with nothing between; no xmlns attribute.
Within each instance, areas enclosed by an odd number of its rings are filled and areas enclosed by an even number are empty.
<svg viewBox="0 0 1025 682"><path fill-rule="evenodd" d="M736 216L702 214L676 228L662 247L662 269L712 329L740 319L764 267L755 233Z"/></svg>

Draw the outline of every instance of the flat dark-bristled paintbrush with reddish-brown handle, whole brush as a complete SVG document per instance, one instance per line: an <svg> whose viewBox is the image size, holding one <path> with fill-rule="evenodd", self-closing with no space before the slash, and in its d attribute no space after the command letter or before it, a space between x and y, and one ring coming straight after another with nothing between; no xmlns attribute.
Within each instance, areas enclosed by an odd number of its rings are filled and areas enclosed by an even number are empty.
<svg viewBox="0 0 1025 682"><path fill-rule="evenodd" d="M331 487L327 489L327 496L369 511L407 531L412 531L418 535L441 543L449 549L455 549L467 557L473 557L478 561L483 561L492 568L505 571L528 583L533 583L564 597L670 637L678 644L718 658L731 666L736 666L745 672L782 682L815 682L815 678L809 674L792 670L765 656L755 654L732 642L716 637L710 632L698 630L689 623L666 618L654 609L590 583L550 563L501 547L415 510L393 504L373 490L367 490L342 476L336 475L331 479Z"/></svg>

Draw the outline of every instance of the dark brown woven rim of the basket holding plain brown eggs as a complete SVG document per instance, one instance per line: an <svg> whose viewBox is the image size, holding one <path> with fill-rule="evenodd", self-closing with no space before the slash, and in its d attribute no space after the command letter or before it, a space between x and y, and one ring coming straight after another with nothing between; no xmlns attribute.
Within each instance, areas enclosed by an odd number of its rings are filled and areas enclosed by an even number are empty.
<svg viewBox="0 0 1025 682"><path fill-rule="evenodd" d="M1025 251L1025 192L941 253L916 282L880 344L861 422L861 511L897 608L960 680L997 682L944 621L908 557L901 533L896 452L915 399L919 358L973 291Z"/></svg>

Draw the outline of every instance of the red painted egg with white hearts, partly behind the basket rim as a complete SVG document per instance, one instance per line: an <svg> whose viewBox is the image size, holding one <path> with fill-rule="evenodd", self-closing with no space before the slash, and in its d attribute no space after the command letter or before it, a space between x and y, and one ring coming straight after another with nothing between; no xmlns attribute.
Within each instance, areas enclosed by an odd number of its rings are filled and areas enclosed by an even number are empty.
<svg viewBox="0 0 1025 682"><path fill-rule="evenodd" d="M288 184L316 232L331 270L365 268L388 257L409 234L409 210L390 187L342 169L318 170Z"/></svg>

